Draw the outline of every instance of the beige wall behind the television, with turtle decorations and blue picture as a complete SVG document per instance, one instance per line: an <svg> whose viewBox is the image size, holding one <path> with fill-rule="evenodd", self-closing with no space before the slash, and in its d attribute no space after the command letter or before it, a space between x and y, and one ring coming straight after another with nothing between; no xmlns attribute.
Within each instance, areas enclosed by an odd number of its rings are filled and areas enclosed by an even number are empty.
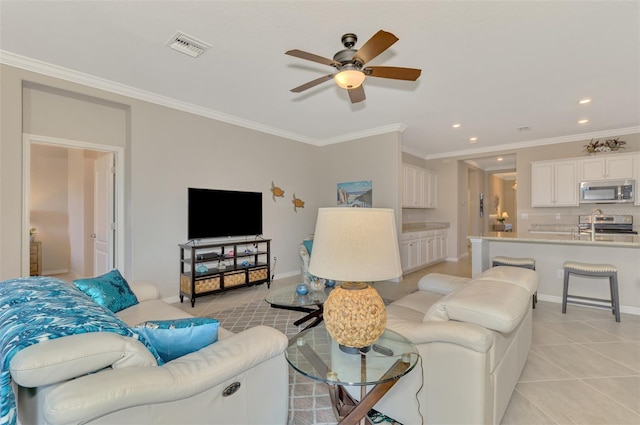
<svg viewBox="0 0 640 425"><path fill-rule="evenodd" d="M123 272L156 282L163 297L177 295L188 187L263 193L276 276L299 273L298 244L313 233L317 208L335 205L337 182L373 180L374 205L398 205L400 134L316 147L6 65L1 70L0 279L21 271L23 81L25 132L125 148ZM284 198L272 200L272 181ZM294 193L305 201L297 212Z"/></svg>

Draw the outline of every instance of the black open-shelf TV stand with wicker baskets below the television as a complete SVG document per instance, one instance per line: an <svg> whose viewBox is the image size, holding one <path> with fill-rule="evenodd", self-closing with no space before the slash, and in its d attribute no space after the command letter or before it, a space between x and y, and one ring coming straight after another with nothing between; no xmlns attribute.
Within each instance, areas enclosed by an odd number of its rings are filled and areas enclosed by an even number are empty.
<svg viewBox="0 0 640 425"><path fill-rule="evenodd" d="M271 287L271 239L180 244L180 302L267 283Z"/></svg>

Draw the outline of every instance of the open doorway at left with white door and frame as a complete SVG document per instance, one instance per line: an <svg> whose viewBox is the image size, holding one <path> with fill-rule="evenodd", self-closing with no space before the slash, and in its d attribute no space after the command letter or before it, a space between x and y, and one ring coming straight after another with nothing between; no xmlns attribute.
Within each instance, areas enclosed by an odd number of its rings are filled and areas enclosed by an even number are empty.
<svg viewBox="0 0 640 425"><path fill-rule="evenodd" d="M40 274L70 282L123 267L122 157L117 147L24 136L23 228L35 228Z"/></svg>

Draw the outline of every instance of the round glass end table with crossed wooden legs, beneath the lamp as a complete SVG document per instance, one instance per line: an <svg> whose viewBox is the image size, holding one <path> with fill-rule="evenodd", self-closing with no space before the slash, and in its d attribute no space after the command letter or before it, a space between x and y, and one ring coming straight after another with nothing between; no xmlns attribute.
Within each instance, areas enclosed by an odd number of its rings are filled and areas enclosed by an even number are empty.
<svg viewBox="0 0 640 425"><path fill-rule="evenodd" d="M372 424L367 417L369 411L419 358L411 341L390 330L385 330L368 352L345 353L324 326L291 338L285 356L297 372L329 385L333 410L341 425ZM372 388L367 391L367 386ZM345 387L360 387L360 401Z"/></svg>

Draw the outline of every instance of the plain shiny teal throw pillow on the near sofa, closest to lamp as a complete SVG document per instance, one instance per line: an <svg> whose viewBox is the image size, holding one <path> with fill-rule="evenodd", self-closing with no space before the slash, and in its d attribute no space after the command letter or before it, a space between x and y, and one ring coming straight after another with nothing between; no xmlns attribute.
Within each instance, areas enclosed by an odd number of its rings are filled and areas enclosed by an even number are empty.
<svg viewBox="0 0 640 425"><path fill-rule="evenodd" d="M150 320L133 330L144 336L162 360L171 361L198 351L218 340L220 322L206 317L175 320Z"/></svg>

